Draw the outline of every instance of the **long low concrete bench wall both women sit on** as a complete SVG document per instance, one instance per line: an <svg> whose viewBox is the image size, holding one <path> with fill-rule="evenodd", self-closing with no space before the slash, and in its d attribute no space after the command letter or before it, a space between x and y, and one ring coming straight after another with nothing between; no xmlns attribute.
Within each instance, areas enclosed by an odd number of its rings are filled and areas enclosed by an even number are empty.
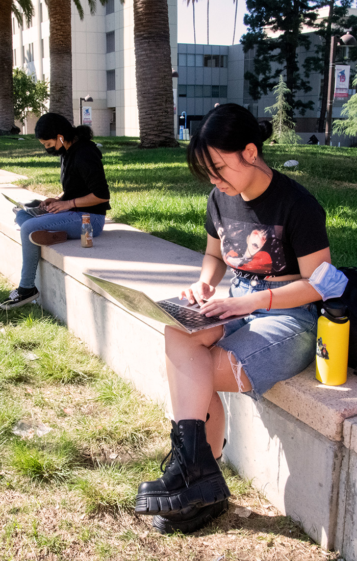
<svg viewBox="0 0 357 561"><path fill-rule="evenodd" d="M10 176L7 181L16 180ZM0 191L14 200L44 198L11 183L0 185ZM21 247L13 218L11 204L3 199L1 272L16 284ZM44 308L65 321L118 374L170 407L163 325L123 310L83 273L160 300L198 279L202 255L107 220L93 248L68 240L43 247L42 258L36 286ZM227 294L230 276L223 279L218 296ZM276 384L258 403L239 394L222 394L222 399L227 458L283 513L298 519L313 539L339 549L348 561L357 559L357 376L349 370L346 384L328 387L315 379L313 363Z"/></svg>

